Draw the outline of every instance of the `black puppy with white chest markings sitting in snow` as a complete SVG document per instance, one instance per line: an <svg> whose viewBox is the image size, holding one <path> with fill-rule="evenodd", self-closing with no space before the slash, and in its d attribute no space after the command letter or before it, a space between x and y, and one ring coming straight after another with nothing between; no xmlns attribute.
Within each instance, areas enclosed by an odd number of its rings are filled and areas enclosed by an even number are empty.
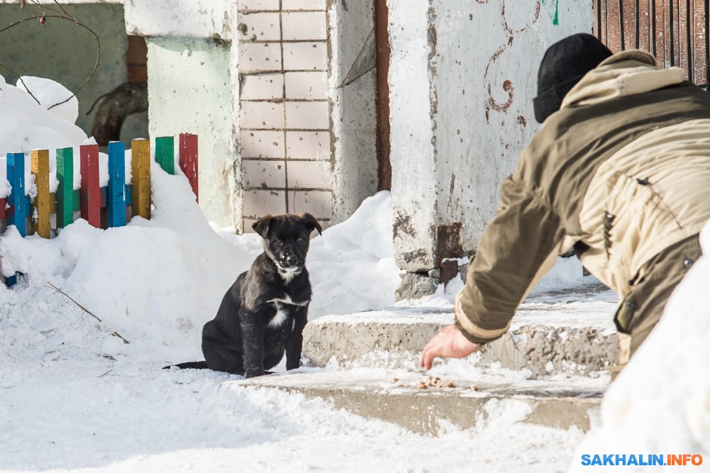
<svg viewBox="0 0 710 473"><path fill-rule="evenodd" d="M322 233L322 228L310 213L267 215L252 228L264 239L264 252L239 274L217 316L204 324L205 361L175 366L250 378L278 365L284 351L286 369L300 366L311 298L306 252L312 230Z"/></svg>

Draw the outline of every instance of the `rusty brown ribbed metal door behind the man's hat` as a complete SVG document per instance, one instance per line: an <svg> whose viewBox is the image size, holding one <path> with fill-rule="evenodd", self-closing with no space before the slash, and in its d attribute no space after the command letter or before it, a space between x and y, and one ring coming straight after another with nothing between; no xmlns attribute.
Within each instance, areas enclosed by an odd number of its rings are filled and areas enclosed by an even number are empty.
<svg viewBox="0 0 710 473"><path fill-rule="evenodd" d="M643 49L660 67L679 66L710 82L710 0L593 0L594 34L612 52Z"/></svg>

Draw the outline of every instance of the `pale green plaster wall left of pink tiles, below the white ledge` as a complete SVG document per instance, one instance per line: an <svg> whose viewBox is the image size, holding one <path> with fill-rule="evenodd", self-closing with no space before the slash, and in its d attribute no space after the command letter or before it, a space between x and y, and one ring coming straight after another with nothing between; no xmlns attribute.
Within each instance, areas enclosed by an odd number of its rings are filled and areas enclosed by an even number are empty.
<svg viewBox="0 0 710 473"><path fill-rule="evenodd" d="M199 136L200 206L224 226L241 219L229 45L206 39L148 38L151 137Z"/></svg>

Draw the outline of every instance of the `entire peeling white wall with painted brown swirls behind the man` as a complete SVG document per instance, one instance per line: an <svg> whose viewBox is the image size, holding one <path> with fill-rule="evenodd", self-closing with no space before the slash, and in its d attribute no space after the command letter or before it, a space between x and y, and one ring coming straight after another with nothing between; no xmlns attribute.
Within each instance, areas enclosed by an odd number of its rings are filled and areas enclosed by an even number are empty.
<svg viewBox="0 0 710 473"><path fill-rule="evenodd" d="M427 272L475 249L503 178L538 128L542 54L564 36L591 33L591 3L388 6L395 252L403 269Z"/></svg>

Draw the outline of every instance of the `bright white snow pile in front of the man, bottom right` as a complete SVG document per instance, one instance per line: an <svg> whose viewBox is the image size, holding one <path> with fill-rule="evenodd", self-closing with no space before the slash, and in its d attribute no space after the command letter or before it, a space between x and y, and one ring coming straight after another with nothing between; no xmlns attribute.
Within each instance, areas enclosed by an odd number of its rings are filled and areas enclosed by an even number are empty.
<svg viewBox="0 0 710 473"><path fill-rule="evenodd" d="M699 454L704 462L694 470L710 471L710 223L700 242L704 256L689 269L659 323L606 391L602 427L579 445L572 471L586 471L583 454L611 453Z"/></svg>

